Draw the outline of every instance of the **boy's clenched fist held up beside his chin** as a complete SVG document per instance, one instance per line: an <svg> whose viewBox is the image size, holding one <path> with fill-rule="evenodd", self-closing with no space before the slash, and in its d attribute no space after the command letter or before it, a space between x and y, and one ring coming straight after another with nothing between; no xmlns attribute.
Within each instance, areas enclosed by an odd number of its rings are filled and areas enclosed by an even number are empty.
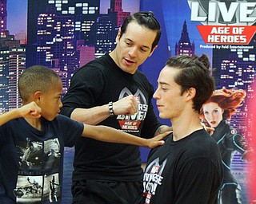
<svg viewBox="0 0 256 204"><path fill-rule="evenodd" d="M23 105L21 108L18 108L19 115L21 117L29 118L40 118L41 108L34 101L30 104Z"/></svg>

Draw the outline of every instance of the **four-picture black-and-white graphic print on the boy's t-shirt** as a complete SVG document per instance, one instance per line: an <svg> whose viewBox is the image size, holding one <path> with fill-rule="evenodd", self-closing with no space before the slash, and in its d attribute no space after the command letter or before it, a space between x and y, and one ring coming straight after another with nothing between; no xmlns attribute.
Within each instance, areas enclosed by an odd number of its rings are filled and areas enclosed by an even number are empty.
<svg viewBox="0 0 256 204"><path fill-rule="evenodd" d="M14 195L17 203L58 202L61 199L58 138L17 142L18 180Z"/></svg>

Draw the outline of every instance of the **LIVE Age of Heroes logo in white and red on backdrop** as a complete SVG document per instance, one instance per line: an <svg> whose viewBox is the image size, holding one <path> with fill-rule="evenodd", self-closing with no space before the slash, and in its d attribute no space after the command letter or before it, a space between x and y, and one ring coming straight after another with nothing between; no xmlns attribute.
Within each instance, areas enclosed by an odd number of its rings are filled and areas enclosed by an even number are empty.
<svg viewBox="0 0 256 204"><path fill-rule="evenodd" d="M188 0L206 44L248 45L256 32L256 0Z"/></svg>

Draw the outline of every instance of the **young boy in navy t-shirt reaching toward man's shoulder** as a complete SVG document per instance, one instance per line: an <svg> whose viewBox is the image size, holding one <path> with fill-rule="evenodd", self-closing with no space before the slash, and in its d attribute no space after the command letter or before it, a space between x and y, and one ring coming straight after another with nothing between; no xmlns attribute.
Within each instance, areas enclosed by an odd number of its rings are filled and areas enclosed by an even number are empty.
<svg viewBox="0 0 256 204"><path fill-rule="evenodd" d="M114 128L85 125L58 116L62 81L44 66L26 69L19 78L18 89L23 105L34 101L41 108L41 117L25 116L0 127L0 203L60 203L63 150L73 147L81 135L145 147L163 143L158 141L163 135L141 139Z"/></svg>

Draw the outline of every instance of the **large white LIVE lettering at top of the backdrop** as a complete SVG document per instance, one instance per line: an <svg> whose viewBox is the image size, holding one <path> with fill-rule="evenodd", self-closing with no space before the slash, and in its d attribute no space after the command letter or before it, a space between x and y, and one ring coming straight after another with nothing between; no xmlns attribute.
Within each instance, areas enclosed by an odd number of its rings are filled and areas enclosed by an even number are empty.
<svg viewBox="0 0 256 204"><path fill-rule="evenodd" d="M252 26L256 0L188 0L191 21L215 26Z"/></svg>

